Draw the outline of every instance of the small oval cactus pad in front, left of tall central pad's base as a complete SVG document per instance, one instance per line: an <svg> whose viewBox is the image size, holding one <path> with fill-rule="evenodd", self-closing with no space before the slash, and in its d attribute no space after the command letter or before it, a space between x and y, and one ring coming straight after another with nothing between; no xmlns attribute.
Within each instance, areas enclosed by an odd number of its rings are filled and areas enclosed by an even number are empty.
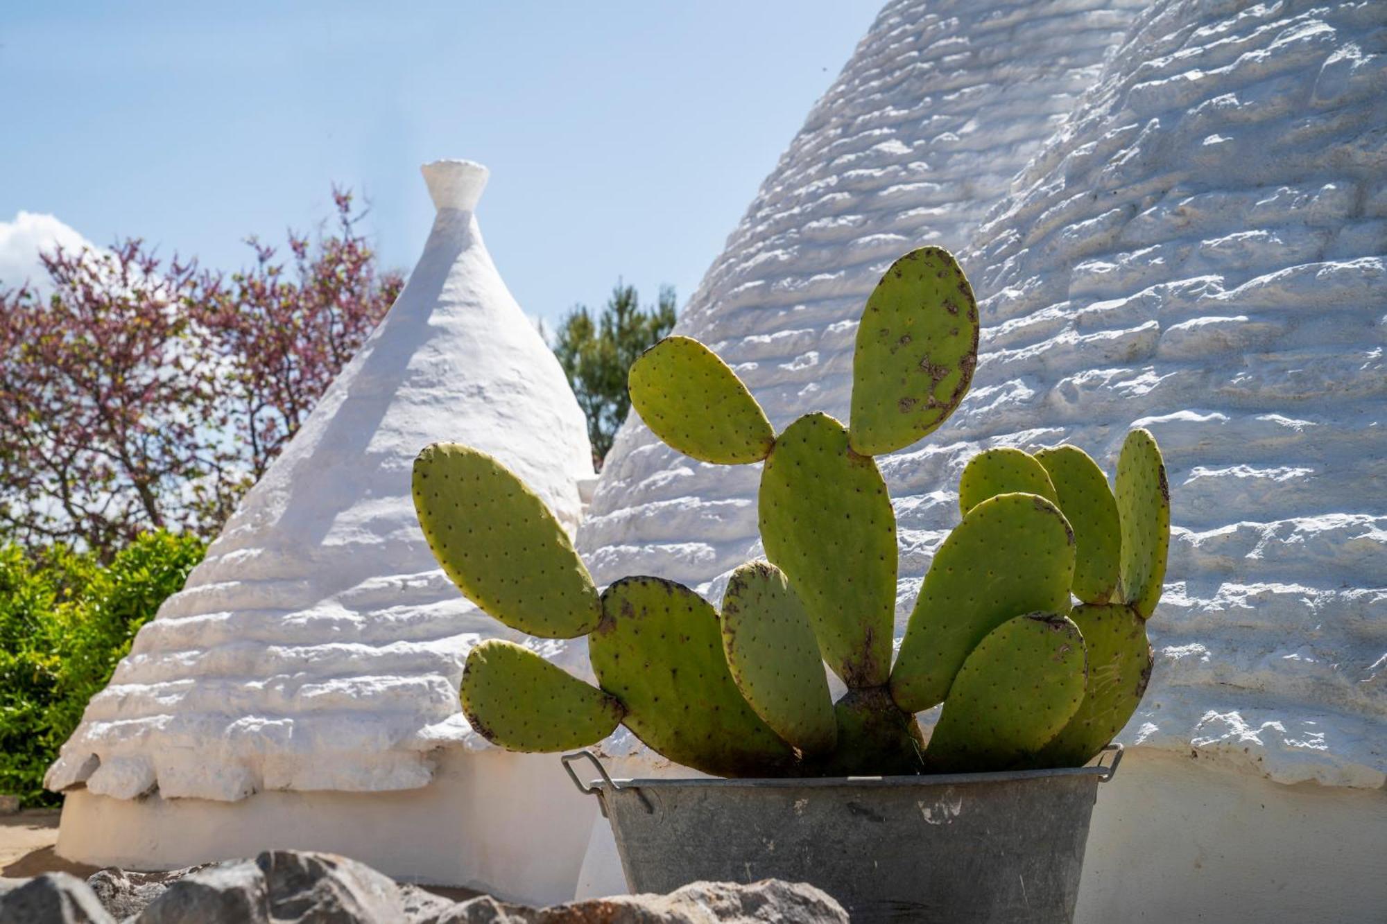
<svg viewBox="0 0 1387 924"><path fill-rule="evenodd" d="M804 605L774 565L749 562L723 594L723 649L746 702L806 755L838 741L834 698Z"/></svg>

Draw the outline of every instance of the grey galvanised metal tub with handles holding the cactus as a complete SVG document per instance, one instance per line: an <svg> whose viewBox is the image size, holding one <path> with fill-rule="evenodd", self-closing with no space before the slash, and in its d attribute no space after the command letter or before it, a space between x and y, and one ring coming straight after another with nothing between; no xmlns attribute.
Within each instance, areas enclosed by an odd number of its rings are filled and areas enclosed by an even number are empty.
<svg viewBox="0 0 1387 924"><path fill-rule="evenodd" d="M1069 921L1111 763L806 780L621 780L563 756L612 823L632 892L698 880L811 882L854 923ZM585 758L601 780L584 784Z"/></svg>

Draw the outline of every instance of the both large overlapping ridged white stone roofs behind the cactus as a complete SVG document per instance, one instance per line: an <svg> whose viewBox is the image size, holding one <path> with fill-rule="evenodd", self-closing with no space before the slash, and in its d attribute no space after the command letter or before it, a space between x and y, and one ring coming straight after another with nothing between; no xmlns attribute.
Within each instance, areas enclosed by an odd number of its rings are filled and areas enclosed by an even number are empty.
<svg viewBox="0 0 1387 924"><path fill-rule="evenodd" d="M881 461L897 634L968 455L1069 441L1111 469L1146 426L1175 537L1153 688L1122 739L1383 785L1384 46L1370 0L888 4L680 330L777 427L846 419L871 286L911 247L961 254L985 323L972 393ZM716 599L759 552L757 479L632 418L580 548L599 581Z"/></svg>

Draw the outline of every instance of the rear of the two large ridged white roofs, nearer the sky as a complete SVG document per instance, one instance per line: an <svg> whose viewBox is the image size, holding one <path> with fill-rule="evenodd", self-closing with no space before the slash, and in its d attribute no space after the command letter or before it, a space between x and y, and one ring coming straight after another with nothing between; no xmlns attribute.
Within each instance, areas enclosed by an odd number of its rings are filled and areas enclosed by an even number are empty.
<svg viewBox="0 0 1387 924"><path fill-rule="evenodd" d="M856 318L885 266L961 251L1097 80L1140 3L888 3L713 262L678 332L731 363L777 429L846 420ZM632 418L580 549L599 583L707 584L756 544L760 466L709 466Z"/></svg>

